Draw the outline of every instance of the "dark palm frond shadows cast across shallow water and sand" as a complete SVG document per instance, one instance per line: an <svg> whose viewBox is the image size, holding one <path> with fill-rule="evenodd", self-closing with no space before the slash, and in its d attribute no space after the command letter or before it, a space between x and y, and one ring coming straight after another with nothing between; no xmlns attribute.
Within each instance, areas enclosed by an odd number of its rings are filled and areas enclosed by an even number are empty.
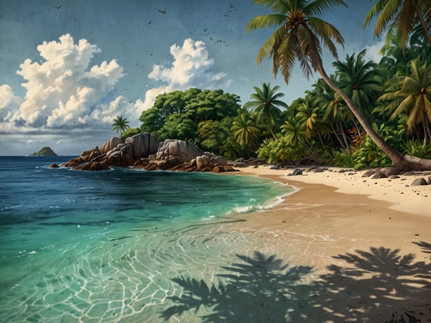
<svg viewBox="0 0 431 323"><path fill-rule="evenodd" d="M416 244L431 253L430 244ZM193 311L202 322L431 322L431 263L399 249L334 256L343 266L328 266L315 280L312 267L276 255L236 257L216 283L175 277L182 293L169 297L162 319Z"/></svg>

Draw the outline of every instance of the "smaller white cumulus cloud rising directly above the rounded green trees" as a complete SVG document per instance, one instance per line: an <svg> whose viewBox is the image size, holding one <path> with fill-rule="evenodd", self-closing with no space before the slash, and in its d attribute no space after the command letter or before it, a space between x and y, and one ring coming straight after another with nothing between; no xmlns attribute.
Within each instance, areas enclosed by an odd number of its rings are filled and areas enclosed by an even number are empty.
<svg viewBox="0 0 431 323"><path fill-rule="evenodd" d="M163 86L146 91L145 100L136 102L137 108L146 110L153 106L157 95L173 90L186 90L191 87L215 89L229 86L223 72L214 72L214 60L209 58L203 41L185 39L182 46L174 44L170 48L173 63L170 68L162 65L153 66L148 77L162 81Z"/></svg>

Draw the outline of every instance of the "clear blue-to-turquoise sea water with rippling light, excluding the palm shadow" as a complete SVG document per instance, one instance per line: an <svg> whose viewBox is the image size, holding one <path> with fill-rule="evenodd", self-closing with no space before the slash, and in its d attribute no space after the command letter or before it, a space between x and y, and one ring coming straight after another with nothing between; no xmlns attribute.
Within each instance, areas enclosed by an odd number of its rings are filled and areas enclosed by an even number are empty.
<svg viewBox="0 0 431 323"><path fill-rule="evenodd" d="M293 192L257 177L48 168L68 159L0 157L1 322L163 322L175 277L211 282L247 249L223 222Z"/></svg>

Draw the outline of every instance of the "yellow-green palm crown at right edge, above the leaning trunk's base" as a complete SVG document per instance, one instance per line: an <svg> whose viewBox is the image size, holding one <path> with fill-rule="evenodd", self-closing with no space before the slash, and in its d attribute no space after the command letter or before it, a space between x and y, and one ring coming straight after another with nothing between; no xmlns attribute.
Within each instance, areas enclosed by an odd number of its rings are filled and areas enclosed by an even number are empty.
<svg viewBox="0 0 431 323"><path fill-rule="evenodd" d="M423 129L423 148L431 137L431 65L419 65L419 59L412 61L410 77L399 77L401 89L386 93L381 100L398 100L401 103L391 116L393 119L408 111L407 130L412 132L420 124Z"/></svg>

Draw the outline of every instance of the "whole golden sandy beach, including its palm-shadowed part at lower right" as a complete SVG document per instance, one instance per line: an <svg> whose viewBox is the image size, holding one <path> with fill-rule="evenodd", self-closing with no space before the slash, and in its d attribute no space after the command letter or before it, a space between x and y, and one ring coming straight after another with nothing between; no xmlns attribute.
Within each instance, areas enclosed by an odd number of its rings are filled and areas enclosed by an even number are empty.
<svg viewBox="0 0 431 323"><path fill-rule="evenodd" d="M256 237L250 257L309 266L301 282L331 286L308 310L298 305L305 322L431 322L431 186L410 185L431 174L371 179L329 168L286 176L292 170L241 168L298 190L220 230Z"/></svg>

